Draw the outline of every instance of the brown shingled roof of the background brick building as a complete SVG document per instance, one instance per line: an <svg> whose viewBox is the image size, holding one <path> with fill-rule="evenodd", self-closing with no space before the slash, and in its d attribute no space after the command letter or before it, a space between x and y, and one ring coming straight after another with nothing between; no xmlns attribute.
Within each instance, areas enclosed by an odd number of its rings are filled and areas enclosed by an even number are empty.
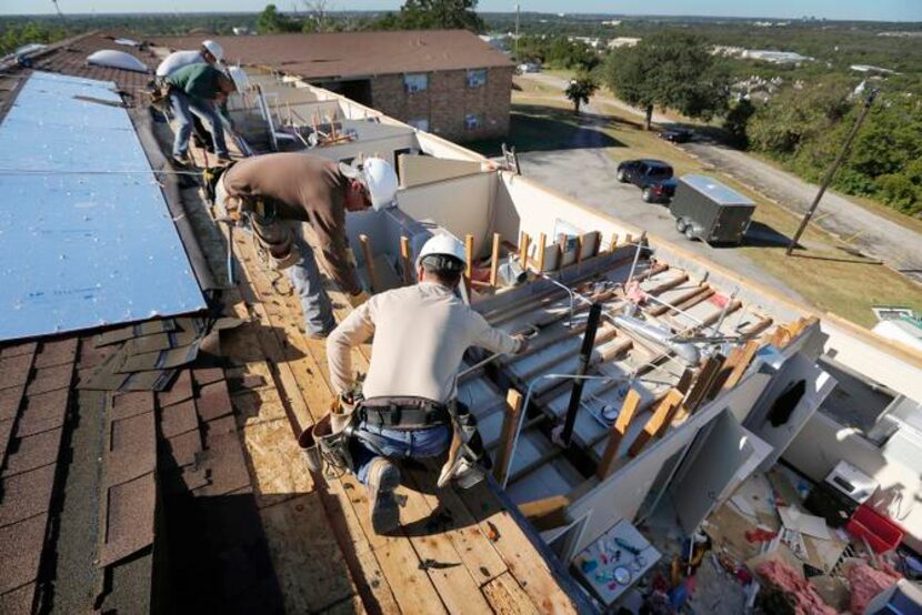
<svg viewBox="0 0 922 615"><path fill-rule="evenodd" d="M203 36L162 37L171 49L197 49ZM467 30L395 30L217 37L228 62L271 65L307 79L512 67Z"/></svg>

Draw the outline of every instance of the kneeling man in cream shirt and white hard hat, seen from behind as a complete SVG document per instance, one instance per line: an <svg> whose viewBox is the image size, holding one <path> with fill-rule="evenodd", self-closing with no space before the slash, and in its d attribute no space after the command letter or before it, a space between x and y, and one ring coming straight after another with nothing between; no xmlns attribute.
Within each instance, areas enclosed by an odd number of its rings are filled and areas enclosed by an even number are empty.
<svg viewBox="0 0 922 615"><path fill-rule="evenodd" d="M379 533L393 531L400 521L394 461L449 451L439 484L459 477L465 460L457 453L475 434L475 421L455 400L464 352L480 346L519 353L527 345L524 336L491 326L461 300L458 284L465 264L460 241L433 236L417 259L419 283L373 295L327 339L330 380L338 394L333 410L348 409L352 415L343 432L349 470L368 487L371 523ZM371 364L358 393L352 349L372 335Z"/></svg>

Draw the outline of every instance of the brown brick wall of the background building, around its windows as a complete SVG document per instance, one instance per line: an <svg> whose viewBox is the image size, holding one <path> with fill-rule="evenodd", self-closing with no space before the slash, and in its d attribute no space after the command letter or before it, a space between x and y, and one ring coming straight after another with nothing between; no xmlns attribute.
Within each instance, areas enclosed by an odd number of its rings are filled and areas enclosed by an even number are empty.
<svg viewBox="0 0 922 615"><path fill-rule="evenodd" d="M487 70L487 83L468 87L464 70L429 72L428 87L409 93L402 74L384 74L371 80L372 107L398 120L429 122L429 132L452 141L471 141L509 133L509 103L512 67ZM469 114L480 119L469 128Z"/></svg>

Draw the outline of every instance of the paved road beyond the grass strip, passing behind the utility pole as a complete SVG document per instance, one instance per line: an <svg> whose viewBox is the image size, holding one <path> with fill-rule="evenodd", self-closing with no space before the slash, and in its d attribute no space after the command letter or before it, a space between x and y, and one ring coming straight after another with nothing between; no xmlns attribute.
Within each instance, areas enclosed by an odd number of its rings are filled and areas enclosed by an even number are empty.
<svg viewBox="0 0 922 615"><path fill-rule="evenodd" d="M522 77L544 85L567 87L565 79L551 74L530 73ZM643 114L640 109L617 99L595 97L593 100L613 104L629 113ZM671 123L672 120L654 113L653 121ZM819 190L816 185L738 150L710 142L685 143L681 147L705 164L720 169L721 172L794 212L806 211ZM880 259L892 269L922 282L922 234L830 192L823 196L812 223L842 239L863 254Z"/></svg>

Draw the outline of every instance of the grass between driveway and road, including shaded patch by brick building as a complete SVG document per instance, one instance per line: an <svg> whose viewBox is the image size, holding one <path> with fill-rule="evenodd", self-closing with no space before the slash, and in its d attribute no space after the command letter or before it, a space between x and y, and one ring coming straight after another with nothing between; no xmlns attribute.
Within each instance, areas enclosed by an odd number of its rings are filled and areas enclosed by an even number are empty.
<svg viewBox="0 0 922 615"><path fill-rule="evenodd" d="M580 130L578 118L559 95L517 92L513 102L512 129L507 142L514 143L519 151L565 148ZM659 158L669 161L678 175L706 173L753 199L758 204L753 216L756 228L762 234L775 236L778 242L728 250L740 250L816 308L863 326L876 322L871 311L874 305L900 304L922 311L922 286L884 265L849 254L842 250L841 242L816 228L808 229L801 241L803 250L785 256L784 238L794 233L800 218L659 139L655 131L644 131L635 115L603 103L595 108L608 118L602 130L619 145L605 150L613 160ZM494 147L498 153L499 144ZM490 148L478 151L495 155Z"/></svg>

